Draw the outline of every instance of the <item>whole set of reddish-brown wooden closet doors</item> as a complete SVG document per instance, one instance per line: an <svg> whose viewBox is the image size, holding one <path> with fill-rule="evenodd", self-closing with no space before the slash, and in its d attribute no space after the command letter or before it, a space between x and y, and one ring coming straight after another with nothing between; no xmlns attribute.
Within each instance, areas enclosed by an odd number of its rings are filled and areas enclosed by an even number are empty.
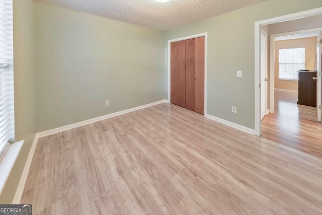
<svg viewBox="0 0 322 215"><path fill-rule="evenodd" d="M171 43L171 103L204 114L205 38Z"/></svg>

